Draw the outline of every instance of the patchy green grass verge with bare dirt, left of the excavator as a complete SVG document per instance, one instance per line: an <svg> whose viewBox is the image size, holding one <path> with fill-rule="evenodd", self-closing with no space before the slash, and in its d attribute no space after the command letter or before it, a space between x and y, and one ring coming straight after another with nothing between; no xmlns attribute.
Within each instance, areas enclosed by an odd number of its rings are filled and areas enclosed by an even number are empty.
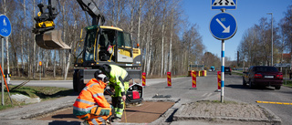
<svg viewBox="0 0 292 125"><path fill-rule="evenodd" d="M9 86L10 89L13 89L16 86ZM73 93L73 89L64 89L64 88L56 88L56 87L21 87L19 89L14 89L10 91L10 96L15 94L22 94L28 96L30 98L40 98L42 101L47 99L57 99L60 97L68 96L69 94ZM2 92L0 91L2 95ZM14 99L13 105L8 96L8 92L5 90L5 105L0 105L0 110L2 109L10 109L16 106L23 106L26 105L24 102L17 102Z"/></svg>

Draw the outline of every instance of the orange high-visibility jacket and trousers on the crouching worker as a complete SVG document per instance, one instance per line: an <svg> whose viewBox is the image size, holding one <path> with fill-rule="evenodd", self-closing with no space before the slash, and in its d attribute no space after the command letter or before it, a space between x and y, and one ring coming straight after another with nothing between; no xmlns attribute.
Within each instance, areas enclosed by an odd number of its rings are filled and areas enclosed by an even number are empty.
<svg viewBox="0 0 292 125"><path fill-rule="evenodd" d="M108 116L110 104L104 98L103 92L106 88L106 83L96 78L89 80L89 83L80 92L78 98L73 104L73 114L76 116L95 114L96 116ZM97 112L98 111L98 112ZM97 115L99 114L99 115ZM80 118L81 119L81 118ZM89 118L82 118L87 120Z"/></svg>

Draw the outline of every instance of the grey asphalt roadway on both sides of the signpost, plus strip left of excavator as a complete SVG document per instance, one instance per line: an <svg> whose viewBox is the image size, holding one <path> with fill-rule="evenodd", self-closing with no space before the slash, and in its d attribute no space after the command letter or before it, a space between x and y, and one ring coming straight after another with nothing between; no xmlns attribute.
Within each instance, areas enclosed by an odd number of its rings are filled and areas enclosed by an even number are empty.
<svg viewBox="0 0 292 125"><path fill-rule="evenodd" d="M22 81L11 81L13 85L18 85ZM224 78L224 99L242 101L260 105L274 112L283 124L292 123L292 105L263 104L260 101L276 101L292 103L292 89L282 87L279 90L274 88L249 89L242 85L242 78L237 75L225 75ZM30 81L26 86L53 86L72 89L72 81ZM172 78L172 88L167 87L166 78L146 79L144 97L155 95L171 96L180 98L180 103L193 102L200 99L215 97L220 100L220 92L216 92L217 78L216 72L208 72L207 77L197 77L197 88L192 88L192 78Z"/></svg>

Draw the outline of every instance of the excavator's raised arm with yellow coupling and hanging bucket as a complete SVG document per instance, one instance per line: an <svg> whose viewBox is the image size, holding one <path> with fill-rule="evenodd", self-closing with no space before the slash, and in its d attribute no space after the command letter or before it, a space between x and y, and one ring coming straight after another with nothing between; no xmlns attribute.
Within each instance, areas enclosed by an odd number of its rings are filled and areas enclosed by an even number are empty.
<svg viewBox="0 0 292 125"><path fill-rule="evenodd" d="M104 24L105 18L92 0L77 0L77 2L92 17L92 26ZM40 12L34 18L36 27L33 29L33 33L36 34L37 46L45 49L71 49L62 41L62 31L55 29L54 19L59 13L59 1L47 0L47 4L37 5Z"/></svg>

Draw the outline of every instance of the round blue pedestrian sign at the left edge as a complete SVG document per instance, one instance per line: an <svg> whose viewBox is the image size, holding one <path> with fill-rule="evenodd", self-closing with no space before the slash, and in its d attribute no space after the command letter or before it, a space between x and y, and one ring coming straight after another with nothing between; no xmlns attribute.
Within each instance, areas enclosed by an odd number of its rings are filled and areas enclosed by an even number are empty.
<svg viewBox="0 0 292 125"><path fill-rule="evenodd" d="M10 36L11 24L7 16L0 15L0 36Z"/></svg>

